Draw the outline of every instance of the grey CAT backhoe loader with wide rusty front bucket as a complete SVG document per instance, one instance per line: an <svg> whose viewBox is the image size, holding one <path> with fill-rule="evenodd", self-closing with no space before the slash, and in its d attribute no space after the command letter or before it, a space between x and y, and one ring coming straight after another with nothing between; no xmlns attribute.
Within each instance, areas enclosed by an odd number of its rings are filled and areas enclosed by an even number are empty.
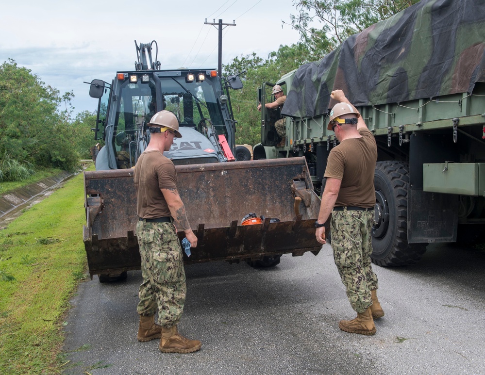
<svg viewBox="0 0 485 375"><path fill-rule="evenodd" d="M99 99L95 139L104 143L96 171L84 172L84 246L91 277L109 281L140 268L132 167L150 140L147 123L163 109L180 121L182 138L164 155L175 164L178 191L198 237L197 249L190 258L184 255L186 263L243 260L274 266L282 254L317 255L320 201L306 160L234 161L229 89L242 88L239 77L219 78L215 69L161 70L152 60L153 45L135 41L134 70L117 72L111 83L90 83L90 96ZM241 225L250 214L258 218L255 224Z"/></svg>

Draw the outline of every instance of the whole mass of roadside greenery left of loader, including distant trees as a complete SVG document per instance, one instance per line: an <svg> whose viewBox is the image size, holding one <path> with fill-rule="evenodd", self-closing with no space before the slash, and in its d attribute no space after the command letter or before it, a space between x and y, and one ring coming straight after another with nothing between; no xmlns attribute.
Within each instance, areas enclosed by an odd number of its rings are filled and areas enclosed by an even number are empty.
<svg viewBox="0 0 485 375"><path fill-rule="evenodd" d="M38 170L73 172L90 158L95 115L72 119L72 92L60 93L9 59L0 65L0 182L22 181ZM60 108L64 107L63 110Z"/></svg>

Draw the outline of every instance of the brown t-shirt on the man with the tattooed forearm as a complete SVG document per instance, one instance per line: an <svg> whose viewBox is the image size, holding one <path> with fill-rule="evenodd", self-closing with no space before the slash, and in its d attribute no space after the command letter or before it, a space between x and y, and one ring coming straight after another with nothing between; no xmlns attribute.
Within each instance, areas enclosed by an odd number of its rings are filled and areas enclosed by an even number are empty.
<svg viewBox="0 0 485 375"><path fill-rule="evenodd" d="M160 189L177 189L177 174L172 161L160 151L145 151L134 168L136 212L143 219L171 216Z"/></svg>

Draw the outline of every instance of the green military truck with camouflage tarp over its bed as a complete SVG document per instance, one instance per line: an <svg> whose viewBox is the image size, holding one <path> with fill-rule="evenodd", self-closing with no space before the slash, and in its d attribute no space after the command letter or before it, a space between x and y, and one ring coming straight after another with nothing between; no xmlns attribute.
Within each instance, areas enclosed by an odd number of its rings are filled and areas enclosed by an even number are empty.
<svg viewBox="0 0 485 375"><path fill-rule="evenodd" d="M430 243L472 240L485 223L485 6L422 0L345 40L321 61L263 83L258 159L305 157L317 192L337 145L330 94L342 89L374 133L372 260L418 261ZM287 94L268 111L271 87ZM286 144L274 122L285 118Z"/></svg>

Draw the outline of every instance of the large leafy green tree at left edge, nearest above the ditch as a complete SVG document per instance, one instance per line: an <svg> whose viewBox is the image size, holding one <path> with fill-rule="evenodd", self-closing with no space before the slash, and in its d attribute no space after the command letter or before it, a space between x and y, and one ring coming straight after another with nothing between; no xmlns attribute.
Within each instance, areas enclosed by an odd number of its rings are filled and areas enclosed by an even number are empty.
<svg viewBox="0 0 485 375"><path fill-rule="evenodd" d="M73 170L78 156L65 132L69 112L59 112L63 98L30 69L9 59L0 65L0 155L20 166ZM70 103L72 92L64 100Z"/></svg>

